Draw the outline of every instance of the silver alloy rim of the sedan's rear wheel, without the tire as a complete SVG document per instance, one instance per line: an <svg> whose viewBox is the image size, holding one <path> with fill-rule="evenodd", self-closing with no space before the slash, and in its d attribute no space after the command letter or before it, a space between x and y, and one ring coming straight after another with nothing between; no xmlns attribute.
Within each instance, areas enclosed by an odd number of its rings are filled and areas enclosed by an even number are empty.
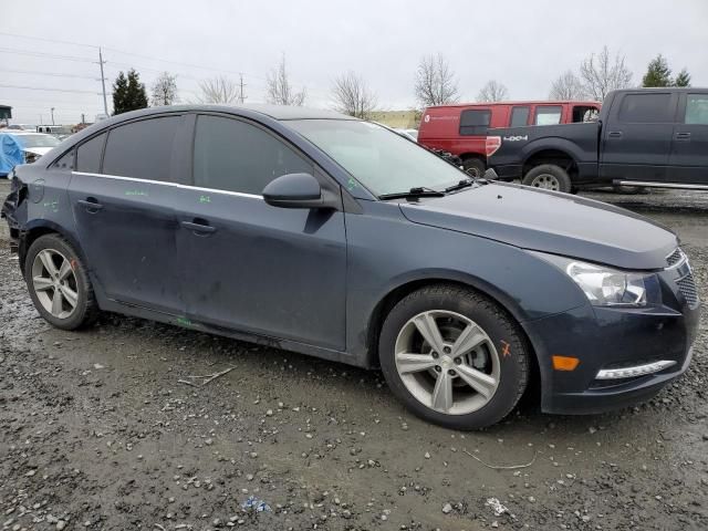
<svg viewBox="0 0 708 531"><path fill-rule="evenodd" d="M43 249L34 257L32 289L42 308L58 319L69 319L76 310L76 275L66 257L54 249Z"/></svg>

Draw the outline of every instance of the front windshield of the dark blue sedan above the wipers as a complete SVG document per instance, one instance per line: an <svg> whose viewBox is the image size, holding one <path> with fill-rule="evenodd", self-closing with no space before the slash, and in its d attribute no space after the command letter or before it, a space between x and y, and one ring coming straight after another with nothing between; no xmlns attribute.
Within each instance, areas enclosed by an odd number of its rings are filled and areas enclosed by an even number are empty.
<svg viewBox="0 0 708 531"><path fill-rule="evenodd" d="M298 119L289 125L377 196L418 187L442 190L467 178L437 155L368 122Z"/></svg>

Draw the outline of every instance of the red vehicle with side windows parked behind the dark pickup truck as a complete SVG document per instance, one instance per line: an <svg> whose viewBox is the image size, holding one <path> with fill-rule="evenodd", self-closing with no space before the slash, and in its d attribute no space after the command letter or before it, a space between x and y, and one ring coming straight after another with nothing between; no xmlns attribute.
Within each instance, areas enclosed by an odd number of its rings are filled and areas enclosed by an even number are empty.
<svg viewBox="0 0 708 531"><path fill-rule="evenodd" d="M423 113L418 143L462 159L465 170L481 177L487 157L499 146L487 143L491 127L558 125L591 122L600 113L597 102L469 103L428 107Z"/></svg>

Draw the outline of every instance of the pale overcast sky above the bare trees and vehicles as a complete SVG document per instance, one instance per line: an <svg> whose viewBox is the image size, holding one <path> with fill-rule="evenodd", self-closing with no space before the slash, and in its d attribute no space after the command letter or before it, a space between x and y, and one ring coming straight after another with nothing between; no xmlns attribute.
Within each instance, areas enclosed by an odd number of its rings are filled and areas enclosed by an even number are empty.
<svg viewBox="0 0 708 531"><path fill-rule="evenodd" d="M333 80L353 71L382 110L416 104L415 73L441 53L462 101L489 80L513 100L546 98L551 83L604 45L625 56L637 85L664 54L694 86L708 86L706 0L20 0L2 1L0 104L12 123L74 124L103 112L98 48L111 85L135 67L150 85L177 75L180 100L199 82L243 75L248 103L266 100L266 79L284 54L306 105L332 107Z"/></svg>

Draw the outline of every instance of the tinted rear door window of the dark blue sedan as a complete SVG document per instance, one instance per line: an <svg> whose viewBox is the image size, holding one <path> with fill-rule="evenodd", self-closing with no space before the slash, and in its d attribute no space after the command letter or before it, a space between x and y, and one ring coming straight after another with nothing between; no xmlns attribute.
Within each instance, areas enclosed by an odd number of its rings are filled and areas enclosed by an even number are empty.
<svg viewBox="0 0 708 531"><path fill-rule="evenodd" d="M180 116L164 116L111 129L103 173L169 181L169 166Z"/></svg>

